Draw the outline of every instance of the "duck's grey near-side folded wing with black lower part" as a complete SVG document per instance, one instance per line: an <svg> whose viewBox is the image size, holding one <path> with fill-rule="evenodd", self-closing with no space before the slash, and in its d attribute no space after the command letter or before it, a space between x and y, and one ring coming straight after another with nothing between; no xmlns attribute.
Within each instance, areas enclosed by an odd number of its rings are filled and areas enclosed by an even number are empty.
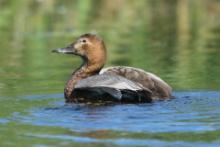
<svg viewBox="0 0 220 147"><path fill-rule="evenodd" d="M80 80L72 93L79 102L151 102L151 91L118 75L95 75Z"/></svg>

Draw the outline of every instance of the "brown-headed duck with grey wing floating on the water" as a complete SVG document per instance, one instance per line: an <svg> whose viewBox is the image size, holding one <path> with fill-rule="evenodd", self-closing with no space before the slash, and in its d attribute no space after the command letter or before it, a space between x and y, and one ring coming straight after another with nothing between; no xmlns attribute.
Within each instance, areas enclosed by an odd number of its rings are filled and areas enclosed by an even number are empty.
<svg viewBox="0 0 220 147"><path fill-rule="evenodd" d="M76 55L83 61L66 83L66 103L150 103L172 98L171 86L153 73L129 66L103 68L107 50L96 34L83 34L52 52Z"/></svg>

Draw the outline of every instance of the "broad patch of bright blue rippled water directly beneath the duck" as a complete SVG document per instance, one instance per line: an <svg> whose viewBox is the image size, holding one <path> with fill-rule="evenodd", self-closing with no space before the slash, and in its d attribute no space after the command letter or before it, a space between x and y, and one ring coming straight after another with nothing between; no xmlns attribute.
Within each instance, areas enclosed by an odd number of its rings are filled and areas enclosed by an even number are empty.
<svg viewBox="0 0 220 147"><path fill-rule="evenodd" d="M219 128L219 92L177 92L174 100L152 104L66 105L33 108L18 120L42 126L60 126L86 132L200 132ZM74 125L73 125L74 124Z"/></svg>

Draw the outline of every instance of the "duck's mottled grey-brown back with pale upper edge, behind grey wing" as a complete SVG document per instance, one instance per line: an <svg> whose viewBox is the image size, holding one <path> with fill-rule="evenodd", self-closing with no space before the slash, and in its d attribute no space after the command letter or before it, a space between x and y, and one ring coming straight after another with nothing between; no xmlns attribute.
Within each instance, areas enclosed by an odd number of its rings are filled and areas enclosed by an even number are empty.
<svg viewBox="0 0 220 147"><path fill-rule="evenodd" d="M143 87L151 90L155 99L172 97L172 88L165 81L142 69L127 66L115 66L102 69L100 75L102 74L120 75L134 83L139 83Z"/></svg>

